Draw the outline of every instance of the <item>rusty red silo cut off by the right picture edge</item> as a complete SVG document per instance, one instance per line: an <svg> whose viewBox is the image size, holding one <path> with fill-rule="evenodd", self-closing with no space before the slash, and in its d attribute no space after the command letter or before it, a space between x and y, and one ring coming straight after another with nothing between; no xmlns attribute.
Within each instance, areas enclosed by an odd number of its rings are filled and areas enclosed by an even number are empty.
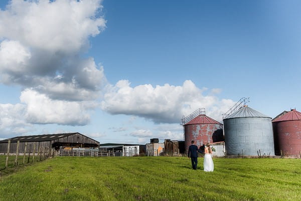
<svg viewBox="0 0 301 201"><path fill-rule="evenodd" d="M278 115L272 120L275 152L277 155L300 156L301 154L301 112Z"/></svg>

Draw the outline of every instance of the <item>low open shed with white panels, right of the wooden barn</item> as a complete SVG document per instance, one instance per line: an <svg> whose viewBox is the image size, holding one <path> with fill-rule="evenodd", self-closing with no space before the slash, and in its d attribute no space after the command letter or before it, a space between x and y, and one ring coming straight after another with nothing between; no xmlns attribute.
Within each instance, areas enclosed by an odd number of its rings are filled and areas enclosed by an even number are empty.
<svg viewBox="0 0 301 201"><path fill-rule="evenodd" d="M135 156L139 155L139 147L139 144L105 143L99 145L99 151L111 151L113 156Z"/></svg>

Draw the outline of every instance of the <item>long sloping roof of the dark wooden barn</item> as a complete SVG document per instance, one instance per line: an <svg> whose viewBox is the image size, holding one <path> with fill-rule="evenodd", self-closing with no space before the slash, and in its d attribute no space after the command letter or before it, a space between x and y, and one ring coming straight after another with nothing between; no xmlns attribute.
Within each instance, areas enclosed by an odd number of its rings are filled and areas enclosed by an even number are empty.
<svg viewBox="0 0 301 201"><path fill-rule="evenodd" d="M41 142L41 141L52 141L52 140L56 140L62 137L67 137L70 135L74 135L74 134L80 134L83 135L81 133L58 133L58 134L46 134L46 135L24 135L24 136L17 136L17 137L12 137L12 138L8 138L5 140L1 140L0 143L7 143L9 140L11 140L11 142L17 142L18 140L20 142ZM85 135L84 135L85 136ZM87 136L85 136L87 137ZM87 137L90 138L90 137ZM90 138L92 139L92 138ZM92 139L94 140L94 139ZM96 140L94 140L96 141ZM98 142L98 141L96 141Z"/></svg>

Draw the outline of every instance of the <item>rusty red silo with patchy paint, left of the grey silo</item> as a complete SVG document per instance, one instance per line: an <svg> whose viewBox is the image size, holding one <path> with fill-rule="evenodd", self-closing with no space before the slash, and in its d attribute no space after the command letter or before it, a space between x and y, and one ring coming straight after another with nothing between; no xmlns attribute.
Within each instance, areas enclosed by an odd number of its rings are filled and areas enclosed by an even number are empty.
<svg viewBox="0 0 301 201"><path fill-rule="evenodd" d="M205 109L199 109L183 119L186 153L192 140L198 147L207 142L224 141L223 124L206 116Z"/></svg>

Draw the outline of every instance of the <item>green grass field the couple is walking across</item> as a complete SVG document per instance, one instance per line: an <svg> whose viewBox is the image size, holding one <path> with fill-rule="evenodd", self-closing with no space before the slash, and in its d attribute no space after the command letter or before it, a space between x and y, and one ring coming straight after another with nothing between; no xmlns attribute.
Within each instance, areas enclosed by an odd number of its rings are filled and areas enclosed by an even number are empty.
<svg viewBox="0 0 301 201"><path fill-rule="evenodd" d="M56 157L0 179L0 200L301 200L300 159Z"/></svg>

